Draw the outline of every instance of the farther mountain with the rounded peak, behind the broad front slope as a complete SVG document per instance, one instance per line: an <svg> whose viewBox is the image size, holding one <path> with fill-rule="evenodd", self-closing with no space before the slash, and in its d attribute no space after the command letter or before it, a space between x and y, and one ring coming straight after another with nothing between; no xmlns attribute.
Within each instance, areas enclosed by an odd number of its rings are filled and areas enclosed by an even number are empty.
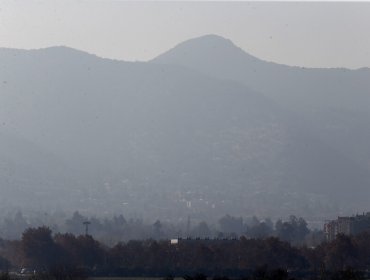
<svg viewBox="0 0 370 280"><path fill-rule="evenodd" d="M314 69L266 62L216 35L185 41L152 62L187 67L261 92L294 111L320 141L369 170L369 68Z"/></svg>

